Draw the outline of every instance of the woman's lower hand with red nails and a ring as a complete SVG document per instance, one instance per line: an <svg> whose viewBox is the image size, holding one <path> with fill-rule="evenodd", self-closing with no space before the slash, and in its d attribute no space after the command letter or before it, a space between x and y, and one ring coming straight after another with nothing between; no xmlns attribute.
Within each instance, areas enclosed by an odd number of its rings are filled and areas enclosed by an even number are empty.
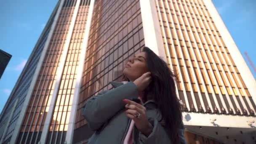
<svg viewBox="0 0 256 144"><path fill-rule="evenodd" d="M126 103L126 115L134 121L134 124L141 133L145 136L149 136L153 130L153 126L148 121L146 108L128 99L124 99L123 101Z"/></svg>

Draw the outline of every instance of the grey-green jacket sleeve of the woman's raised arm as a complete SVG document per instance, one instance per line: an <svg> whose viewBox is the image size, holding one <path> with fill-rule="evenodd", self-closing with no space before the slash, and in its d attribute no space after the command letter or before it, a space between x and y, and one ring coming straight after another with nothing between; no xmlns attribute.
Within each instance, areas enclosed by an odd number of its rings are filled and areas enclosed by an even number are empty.
<svg viewBox="0 0 256 144"><path fill-rule="evenodd" d="M135 97L138 97L138 87L133 82L128 82L89 99L82 107L81 113L87 120L89 128L97 131L107 120L124 108L123 99Z"/></svg>

